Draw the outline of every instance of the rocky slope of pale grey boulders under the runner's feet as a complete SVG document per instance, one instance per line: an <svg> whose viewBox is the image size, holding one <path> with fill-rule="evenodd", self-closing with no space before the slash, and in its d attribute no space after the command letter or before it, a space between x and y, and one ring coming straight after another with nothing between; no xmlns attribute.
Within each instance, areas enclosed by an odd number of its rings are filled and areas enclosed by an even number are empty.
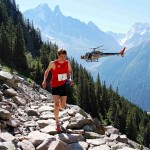
<svg viewBox="0 0 150 150"><path fill-rule="evenodd" d="M1 68L1 150L132 150L141 147L113 126L104 128L99 120L76 105L67 105L60 111L62 131L56 131L53 111L50 93Z"/></svg>

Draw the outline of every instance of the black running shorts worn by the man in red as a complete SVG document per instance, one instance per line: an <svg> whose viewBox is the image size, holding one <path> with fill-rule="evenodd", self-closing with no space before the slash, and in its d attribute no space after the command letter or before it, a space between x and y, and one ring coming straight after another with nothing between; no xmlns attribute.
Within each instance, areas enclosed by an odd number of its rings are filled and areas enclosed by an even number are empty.
<svg viewBox="0 0 150 150"><path fill-rule="evenodd" d="M66 83L61 86L52 87L52 95L67 96Z"/></svg>

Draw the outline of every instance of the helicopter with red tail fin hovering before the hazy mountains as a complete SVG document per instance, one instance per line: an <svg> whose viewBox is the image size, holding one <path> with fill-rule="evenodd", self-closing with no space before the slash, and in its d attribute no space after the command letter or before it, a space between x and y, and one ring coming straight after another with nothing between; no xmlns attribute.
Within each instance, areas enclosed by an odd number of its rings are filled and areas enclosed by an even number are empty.
<svg viewBox="0 0 150 150"><path fill-rule="evenodd" d="M98 62L98 58L101 57L106 57L106 56L113 56L113 55L121 55L122 57L124 56L124 52L126 50L126 47L124 47L120 52L116 52L116 53L103 53L100 50L105 50L105 49L99 49L102 46L98 46L98 47L94 47L94 48L90 48L92 49L91 52L86 53L85 55L81 56L81 59L85 59L87 62L94 62L97 61Z"/></svg>

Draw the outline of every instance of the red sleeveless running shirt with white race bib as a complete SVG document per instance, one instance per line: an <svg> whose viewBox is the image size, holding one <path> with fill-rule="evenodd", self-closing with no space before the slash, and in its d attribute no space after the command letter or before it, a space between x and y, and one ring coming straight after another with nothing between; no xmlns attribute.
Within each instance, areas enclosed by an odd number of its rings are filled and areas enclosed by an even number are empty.
<svg viewBox="0 0 150 150"><path fill-rule="evenodd" d="M52 78L50 81L51 87L65 84L68 78L68 60L65 60L64 63L59 63L58 60L55 60L54 64L55 68L52 69Z"/></svg>

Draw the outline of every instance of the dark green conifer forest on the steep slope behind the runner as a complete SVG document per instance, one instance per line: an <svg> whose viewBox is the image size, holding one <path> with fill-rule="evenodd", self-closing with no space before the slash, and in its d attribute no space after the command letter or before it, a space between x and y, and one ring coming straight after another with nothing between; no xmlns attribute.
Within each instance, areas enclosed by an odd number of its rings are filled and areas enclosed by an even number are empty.
<svg viewBox="0 0 150 150"><path fill-rule="evenodd" d="M56 58L58 45L43 42L40 30L23 18L15 0L0 0L0 63L25 77L42 83L44 71ZM113 125L128 138L149 146L150 116L138 106L120 96L91 74L73 58L69 58L74 86L69 87L69 104L76 104L97 117L104 125ZM48 81L49 82L49 81Z"/></svg>

